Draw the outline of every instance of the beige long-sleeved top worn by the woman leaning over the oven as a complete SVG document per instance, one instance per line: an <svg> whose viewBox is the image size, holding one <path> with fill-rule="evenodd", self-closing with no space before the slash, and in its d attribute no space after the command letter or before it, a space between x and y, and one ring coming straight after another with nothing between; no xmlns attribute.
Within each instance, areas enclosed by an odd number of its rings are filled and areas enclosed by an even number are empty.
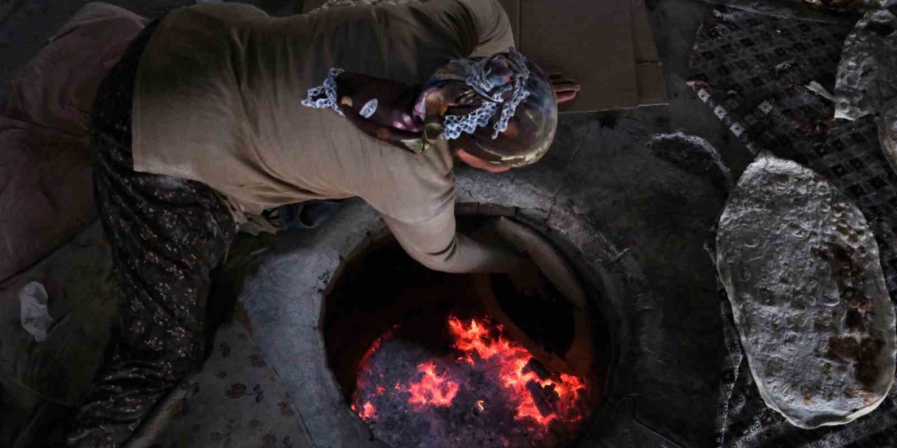
<svg viewBox="0 0 897 448"><path fill-rule="evenodd" d="M163 19L141 57L134 168L203 182L227 199L238 220L292 202L360 196L424 265L504 271L511 255L456 235L444 142L415 155L300 101L331 67L422 84L453 58L513 45L496 0L285 18L247 4L180 8Z"/></svg>

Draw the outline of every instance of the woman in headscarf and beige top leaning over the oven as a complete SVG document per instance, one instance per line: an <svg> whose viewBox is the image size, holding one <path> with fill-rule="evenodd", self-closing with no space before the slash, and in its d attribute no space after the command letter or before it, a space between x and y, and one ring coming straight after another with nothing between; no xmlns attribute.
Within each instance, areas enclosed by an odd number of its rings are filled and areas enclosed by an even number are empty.
<svg viewBox="0 0 897 448"><path fill-rule="evenodd" d="M455 158L501 172L553 140L552 82L512 48L494 0L282 19L200 4L148 25L92 110L119 314L69 446L123 444L202 364L210 272L248 213L360 196L432 269L525 265L456 235L451 177Z"/></svg>

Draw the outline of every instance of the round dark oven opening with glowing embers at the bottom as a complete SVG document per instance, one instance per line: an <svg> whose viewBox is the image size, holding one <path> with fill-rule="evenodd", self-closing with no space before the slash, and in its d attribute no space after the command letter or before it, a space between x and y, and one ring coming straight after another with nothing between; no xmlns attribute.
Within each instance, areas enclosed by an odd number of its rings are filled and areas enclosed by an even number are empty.
<svg viewBox="0 0 897 448"><path fill-rule="evenodd" d="M458 228L487 218L459 216ZM551 367L574 344L576 314L550 286L431 271L384 231L335 273L321 328L347 406L389 446L547 448L576 446L609 392L613 339L596 307L585 310L592 367Z"/></svg>

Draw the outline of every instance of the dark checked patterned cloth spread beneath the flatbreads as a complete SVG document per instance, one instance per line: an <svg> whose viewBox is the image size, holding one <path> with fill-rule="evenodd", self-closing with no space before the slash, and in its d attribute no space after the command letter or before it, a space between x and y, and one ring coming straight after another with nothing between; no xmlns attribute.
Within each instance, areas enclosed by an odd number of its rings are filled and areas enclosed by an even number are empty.
<svg viewBox="0 0 897 448"><path fill-rule="evenodd" d="M897 297L897 176L870 118L832 119L828 99L808 90L834 86L851 25L802 22L755 13L716 13L692 52L692 87L756 154L770 150L828 177L863 211L875 232L884 277ZM818 90L818 89L817 89ZM820 90L822 91L822 90ZM768 409L753 383L731 306L721 290L729 355L718 414L718 446L884 448L897 446L897 390L846 426L803 430Z"/></svg>

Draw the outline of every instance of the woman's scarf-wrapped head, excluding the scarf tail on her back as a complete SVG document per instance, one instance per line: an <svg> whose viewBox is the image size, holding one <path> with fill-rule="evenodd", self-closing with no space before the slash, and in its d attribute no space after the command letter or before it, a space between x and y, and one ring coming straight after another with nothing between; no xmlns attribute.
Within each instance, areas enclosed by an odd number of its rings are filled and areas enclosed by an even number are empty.
<svg viewBox="0 0 897 448"><path fill-rule="evenodd" d="M415 115L439 120L452 150L468 163L466 155L481 159L486 167L536 162L557 127L551 82L513 51L452 61L433 75L418 101Z"/></svg>

